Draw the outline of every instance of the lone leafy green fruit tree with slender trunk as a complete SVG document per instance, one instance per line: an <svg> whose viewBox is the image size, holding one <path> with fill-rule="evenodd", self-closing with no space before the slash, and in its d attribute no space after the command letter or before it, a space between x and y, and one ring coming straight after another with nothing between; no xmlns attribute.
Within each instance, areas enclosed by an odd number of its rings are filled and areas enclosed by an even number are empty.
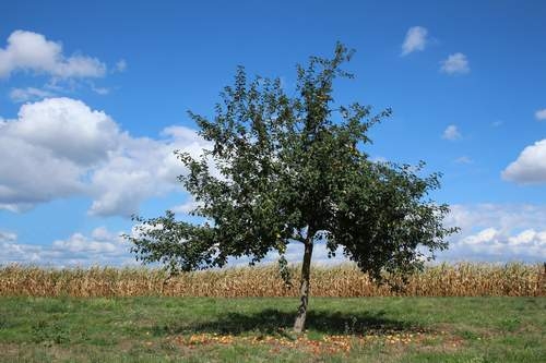
<svg viewBox="0 0 546 363"><path fill-rule="evenodd" d="M382 271L422 268L425 252L447 247L447 205L427 194L439 174L417 166L377 162L364 147L368 130L391 114L352 104L334 108L333 82L353 75L341 65L353 52L337 44L332 59L311 57L297 66L296 96L278 78L248 81L239 68L233 86L221 93L215 117L189 113L200 134L213 143L203 157L177 153L189 169L179 177L200 206L202 226L165 216L136 218L139 233L129 239L138 258L162 262L171 271L222 267L228 256L261 261L304 244L300 297L294 329L304 329L313 245L339 246L372 278ZM434 257L434 255L432 255ZM431 258L431 257L427 257Z"/></svg>

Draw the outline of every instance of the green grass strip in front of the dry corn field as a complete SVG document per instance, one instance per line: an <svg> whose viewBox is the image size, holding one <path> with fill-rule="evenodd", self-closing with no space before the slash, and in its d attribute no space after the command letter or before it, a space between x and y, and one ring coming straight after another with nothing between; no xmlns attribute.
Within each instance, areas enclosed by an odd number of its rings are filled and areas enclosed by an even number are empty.
<svg viewBox="0 0 546 363"><path fill-rule="evenodd" d="M314 298L295 340L297 303L0 298L0 362L546 362L546 298Z"/></svg>

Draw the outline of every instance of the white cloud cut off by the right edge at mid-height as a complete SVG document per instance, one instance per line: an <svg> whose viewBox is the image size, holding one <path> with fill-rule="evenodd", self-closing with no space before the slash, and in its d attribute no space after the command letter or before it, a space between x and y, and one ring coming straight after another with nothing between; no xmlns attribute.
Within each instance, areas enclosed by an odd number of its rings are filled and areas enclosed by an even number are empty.
<svg viewBox="0 0 546 363"><path fill-rule="evenodd" d="M546 138L525 147L501 176L521 184L546 183Z"/></svg>

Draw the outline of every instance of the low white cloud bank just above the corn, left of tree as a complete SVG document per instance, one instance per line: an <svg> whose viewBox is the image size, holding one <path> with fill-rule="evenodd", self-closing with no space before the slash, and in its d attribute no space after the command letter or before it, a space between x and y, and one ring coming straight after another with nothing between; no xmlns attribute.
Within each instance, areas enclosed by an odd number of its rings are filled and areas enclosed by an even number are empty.
<svg viewBox="0 0 546 363"><path fill-rule="evenodd" d="M91 235L73 233L66 240L49 245L19 243L15 239L0 239L0 264L34 264L54 267L123 266L136 264L130 244L104 227Z"/></svg>

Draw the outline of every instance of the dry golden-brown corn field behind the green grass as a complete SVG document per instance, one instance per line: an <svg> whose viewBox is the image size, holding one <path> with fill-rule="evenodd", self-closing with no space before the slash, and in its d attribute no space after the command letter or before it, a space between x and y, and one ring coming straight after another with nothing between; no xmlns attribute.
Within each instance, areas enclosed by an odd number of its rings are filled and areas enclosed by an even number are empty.
<svg viewBox="0 0 546 363"><path fill-rule="evenodd" d="M314 297L545 297L545 265L456 264L427 267L412 275L403 290L377 286L354 265L313 266ZM91 267L54 269L0 267L0 295L27 297L296 297L298 266L286 286L276 265L185 273L171 278L162 269Z"/></svg>

